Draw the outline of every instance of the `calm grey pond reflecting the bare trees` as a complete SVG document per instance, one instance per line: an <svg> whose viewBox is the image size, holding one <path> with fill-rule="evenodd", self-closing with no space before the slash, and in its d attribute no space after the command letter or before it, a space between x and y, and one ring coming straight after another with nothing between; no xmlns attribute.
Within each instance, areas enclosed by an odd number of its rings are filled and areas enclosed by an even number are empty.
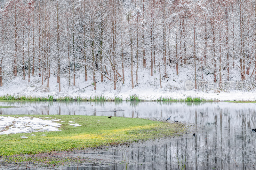
<svg viewBox="0 0 256 170"><path fill-rule="evenodd" d="M79 166L80 170L126 169L126 166L129 169L178 169L176 155L180 161L186 158L186 169L255 167L256 132L251 129L256 128L256 104L253 103L0 102L0 106L19 107L0 109L0 115L111 115L162 121L172 116L170 122L195 124L191 134L183 137L79 153L102 159L101 164Z"/></svg>

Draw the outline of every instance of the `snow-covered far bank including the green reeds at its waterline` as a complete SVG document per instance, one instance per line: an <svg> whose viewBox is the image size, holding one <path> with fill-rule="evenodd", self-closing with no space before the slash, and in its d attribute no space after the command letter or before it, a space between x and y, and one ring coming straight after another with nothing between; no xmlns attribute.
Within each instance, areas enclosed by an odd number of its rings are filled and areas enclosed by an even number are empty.
<svg viewBox="0 0 256 170"><path fill-rule="evenodd" d="M44 100L44 101L124 101L143 100L157 101L172 99L182 101L187 98L203 99L204 101L256 101L256 90L245 86L240 89L191 89L185 90L186 75L179 75L162 80L162 88L155 77L146 70L140 70L138 84L132 88L128 80L118 81L116 90L113 82L104 80L96 83L96 90L92 80L84 81L83 77L76 78L76 85L69 85L67 79L62 79L61 91L56 78L49 79L49 87L42 85L40 77L31 77L31 82L20 78L8 79L0 87L0 100ZM208 80L207 80L208 81ZM211 81L211 79L209 79ZM234 80L235 81L235 80ZM19 88L17 88L19 87ZM246 88L245 88L246 87ZM3 97L6 99L3 99Z"/></svg>

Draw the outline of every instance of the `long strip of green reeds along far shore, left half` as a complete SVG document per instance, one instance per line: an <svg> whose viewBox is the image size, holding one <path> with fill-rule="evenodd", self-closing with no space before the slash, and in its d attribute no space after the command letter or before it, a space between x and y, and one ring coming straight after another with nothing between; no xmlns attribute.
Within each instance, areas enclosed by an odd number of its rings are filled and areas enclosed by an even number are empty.
<svg viewBox="0 0 256 170"><path fill-rule="evenodd" d="M35 97L35 96L11 96L4 95L0 96L0 101L123 101L122 97L114 97L114 98L106 98L105 96L91 96L89 98L81 98L81 97L59 97L54 98L51 95L47 97Z"/></svg>

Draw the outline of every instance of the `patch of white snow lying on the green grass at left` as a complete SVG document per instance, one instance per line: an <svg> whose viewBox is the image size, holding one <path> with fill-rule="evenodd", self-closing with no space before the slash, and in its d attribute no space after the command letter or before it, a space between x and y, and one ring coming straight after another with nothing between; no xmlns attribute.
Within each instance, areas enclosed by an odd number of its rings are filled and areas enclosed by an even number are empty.
<svg viewBox="0 0 256 170"><path fill-rule="evenodd" d="M35 117L0 116L0 127L5 128L0 135L42 131L59 131L60 123ZM25 137L25 136L22 136Z"/></svg>

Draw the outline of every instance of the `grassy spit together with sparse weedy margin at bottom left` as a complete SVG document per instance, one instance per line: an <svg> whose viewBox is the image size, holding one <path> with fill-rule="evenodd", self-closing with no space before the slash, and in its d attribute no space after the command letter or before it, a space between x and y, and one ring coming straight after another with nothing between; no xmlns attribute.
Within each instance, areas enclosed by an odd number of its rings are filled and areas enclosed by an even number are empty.
<svg viewBox="0 0 256 170"><path fill-rule="evenodd" d="M27 117L26 115L6 116ZM107 116L33 115L29 117L59 120L58 123L61 123L60 131L0 135L0 153L2 156L2 158L0 157L0 164L19 165L33 162L37 166L56 166L70 162L81 163L88 161L88 159L51 157L50 155L60 155L58 151L68 153L79 149L107 148L110 145L129 144L163 137L179 137L187 134L190 126L183 123L123 117L108 118ZM79 126L74 127L74 124L71 123L79 124Z"/></svg>

